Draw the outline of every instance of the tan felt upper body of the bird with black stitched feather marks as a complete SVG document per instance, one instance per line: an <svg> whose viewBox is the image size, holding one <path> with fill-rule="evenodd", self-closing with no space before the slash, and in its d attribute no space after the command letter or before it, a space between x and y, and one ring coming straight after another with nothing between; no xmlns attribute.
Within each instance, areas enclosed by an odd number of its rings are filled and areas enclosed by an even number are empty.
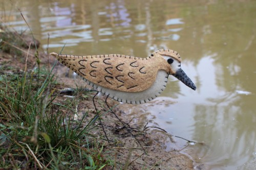
<svg viewBox="0 0 256 170"><path fill-rule="evenodd" d="M159 50L147 58L138 58L119 54L97 56L72 56L51 53L82 78L108 89L139 92L148 89L156 80L158 70L167 74L173 72L160 55L175 56L177 52ZM177 54L176 54L177 53Z"/></svg>

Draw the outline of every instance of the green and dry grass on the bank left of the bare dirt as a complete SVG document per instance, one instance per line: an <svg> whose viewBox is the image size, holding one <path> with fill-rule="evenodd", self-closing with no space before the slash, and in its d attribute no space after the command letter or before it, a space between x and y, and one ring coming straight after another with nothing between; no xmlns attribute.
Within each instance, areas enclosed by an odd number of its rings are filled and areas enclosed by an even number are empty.
<svg viewBox="0 0 256 170"><path fill-rule="evenodd" d="M41 71L43 74L44 71ZM97 117L73 120L79 98L54 103L55 78L0 76L0 167L5 169L101 169L109 165L91 135ZM64 111L63 111L64 110Z"/></svg>

